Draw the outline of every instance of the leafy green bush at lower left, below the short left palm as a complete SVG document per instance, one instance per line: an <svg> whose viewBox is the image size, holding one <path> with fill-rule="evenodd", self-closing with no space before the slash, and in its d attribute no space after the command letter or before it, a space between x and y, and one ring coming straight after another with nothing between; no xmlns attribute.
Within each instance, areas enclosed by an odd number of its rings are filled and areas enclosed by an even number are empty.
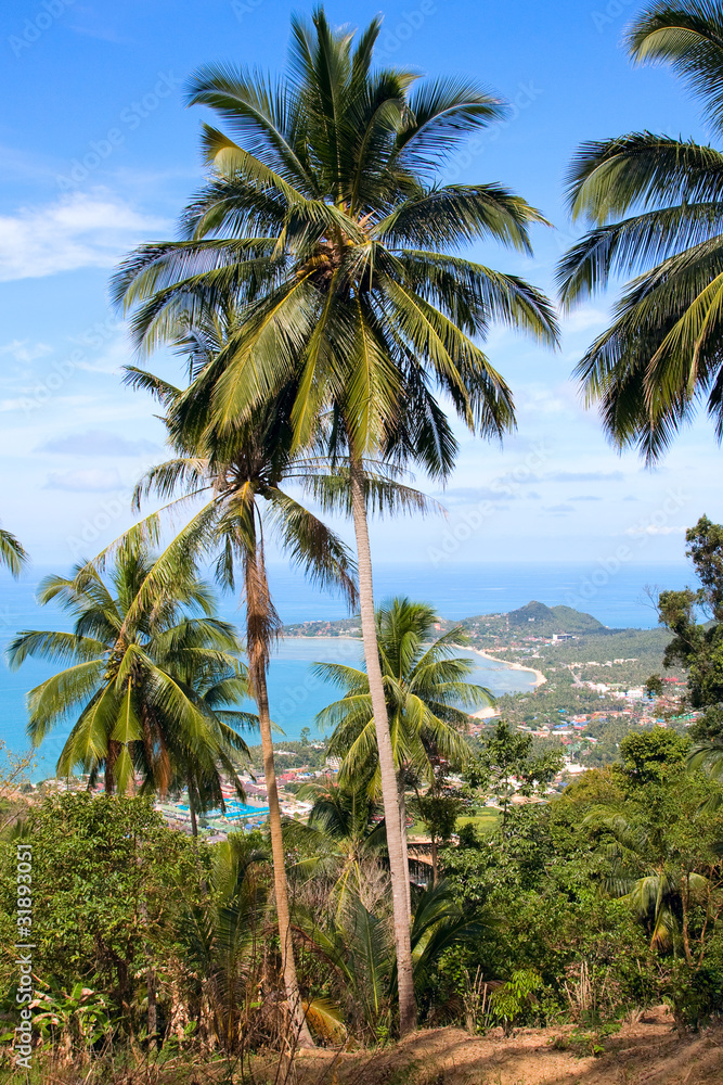
<svg viewBox="0 0 723 1085"><path fill-rule="evenodd" d="M182 893L198 884L197 855L138 797L48 796L16 832L33 845L34 962L51 997L80 982L107 996L121 1031L133 1031L137 978L150 962L166 972ZM1 847L2 910L12 916L15 844ZM3 969L13 976L11 949ZM13 997L15 982L5 986Z"/></svg>

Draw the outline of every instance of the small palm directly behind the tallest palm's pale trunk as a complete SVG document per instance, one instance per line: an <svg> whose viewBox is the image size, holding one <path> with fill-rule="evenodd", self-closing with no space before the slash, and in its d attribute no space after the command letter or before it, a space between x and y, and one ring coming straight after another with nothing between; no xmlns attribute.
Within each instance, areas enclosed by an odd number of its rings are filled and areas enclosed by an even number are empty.
<svg viewBox="0 0 723 1085"><path fill-rule="evenodd" d="M434 786L435 767L440 760L461 765L469 753L461 733L468 727L469 716L461 706L478 709L492 699L489 690L465 681L474 665L464 656L454 656L455 650L467 640L460 627L429 643L437 621L431 607L405 598L392 599L376 612L376 641L399 787L398 824L408 894L405 786L408 782ZM378 792L380 758L367 673L337 663L318 663L314 673L345 690L340 701L317 716L321 727L334 729L328 753L344 758L340 780L366 780L372 793Z"/></svg>

